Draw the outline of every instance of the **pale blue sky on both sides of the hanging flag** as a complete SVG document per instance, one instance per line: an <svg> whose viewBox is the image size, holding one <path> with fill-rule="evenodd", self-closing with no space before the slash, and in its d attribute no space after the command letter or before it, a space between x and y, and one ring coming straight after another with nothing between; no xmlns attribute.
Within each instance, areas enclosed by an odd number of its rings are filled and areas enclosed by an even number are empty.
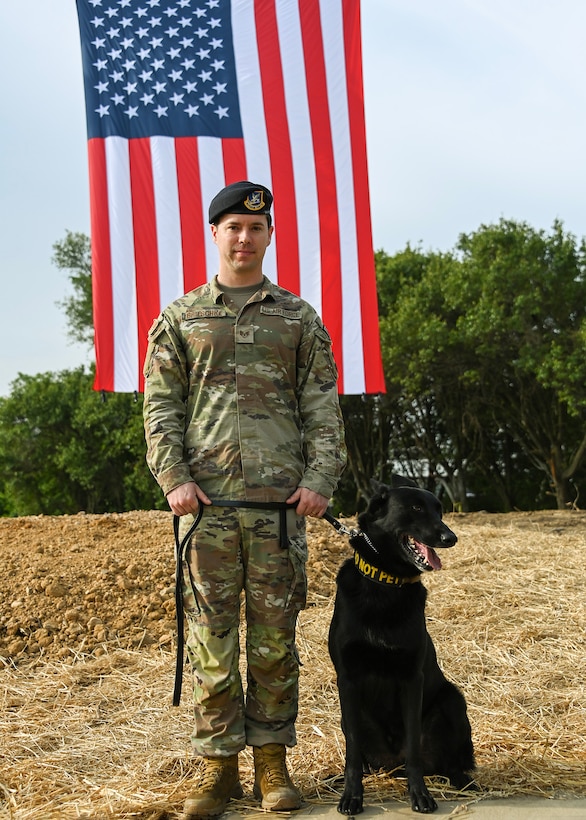
<svg viewBox="0 0 586 820"><path fill-rule="evenodd" d="M358 0L356 0L358 2ZM501 218L586 235L584 0L361 0L373 241L449 250ZM91 361L52 264L89 234L74 0L0 0L0 396Z"/></svg>

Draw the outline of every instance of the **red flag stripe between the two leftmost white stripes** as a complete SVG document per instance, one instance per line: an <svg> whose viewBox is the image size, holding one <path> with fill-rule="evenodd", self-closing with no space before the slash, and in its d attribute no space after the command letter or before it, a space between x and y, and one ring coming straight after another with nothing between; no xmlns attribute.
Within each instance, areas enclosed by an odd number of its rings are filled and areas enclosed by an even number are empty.
<svg viewBox="0 0 586 820"><path fill-rule="evenodd" d="M136 266L138 389L142 390L142 366L147 349L147 335L153 319L161 310L157 226L150 140L129 140L128 149Z"/></svg>

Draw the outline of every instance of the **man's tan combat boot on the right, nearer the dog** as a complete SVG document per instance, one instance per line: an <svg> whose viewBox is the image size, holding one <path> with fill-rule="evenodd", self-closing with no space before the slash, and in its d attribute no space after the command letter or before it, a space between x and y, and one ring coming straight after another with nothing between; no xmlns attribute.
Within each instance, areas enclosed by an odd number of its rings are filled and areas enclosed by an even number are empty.
<svg viewBox="0 0 586 820"><path fill-rule="evenodd" d="M285 747L280 743L253 746L254 796L263 809L291 811L301 806L301 795L291 782L285 763Z"/></svg>

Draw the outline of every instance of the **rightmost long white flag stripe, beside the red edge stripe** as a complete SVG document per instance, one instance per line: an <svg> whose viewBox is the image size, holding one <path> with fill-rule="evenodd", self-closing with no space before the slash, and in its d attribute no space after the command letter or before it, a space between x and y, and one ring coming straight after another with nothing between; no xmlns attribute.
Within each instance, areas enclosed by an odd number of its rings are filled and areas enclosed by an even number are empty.
<svg viewBox="0 0 586 820"><path fill-rule="evenodd" d="M352 176L352 147L346 87L344 27L340 0L320 0L324 25L324 54L330 110L330 130L334 146L336 195L340 224L342 266L342 350L344 392L365 390L364 351L361 322L361 294L358 275L356 202ZM358 204L360 207L360 203Z"/></svg>

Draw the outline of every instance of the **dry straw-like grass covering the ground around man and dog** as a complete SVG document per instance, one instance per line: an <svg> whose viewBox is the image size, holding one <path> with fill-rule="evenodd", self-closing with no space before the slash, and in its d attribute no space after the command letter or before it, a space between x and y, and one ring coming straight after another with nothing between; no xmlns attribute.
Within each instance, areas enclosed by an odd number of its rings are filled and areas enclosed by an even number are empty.
<svg viewBox="0 0 586 820"><path fill-rule="evenodd" d="M448 516L460 537L426 577L440 663L469 706L481 795L586 796L585 528L572 513ZM582 518L583 521L583 518ZM326 639L331 585L303 613L299 743L291 768L308 802L333 803L344 743ZM0 699L0 818L177 817L197 763L186 676L171 706L169 652L118 649L73 663L6 666ZM251 758L243 756L246 785ZM367 778L367 801L404 799L404 782ZM453 798L437 781L438 797ZM250 789L248 789L250 791ZM247 796L236 804L258 811Z"/></svg>

